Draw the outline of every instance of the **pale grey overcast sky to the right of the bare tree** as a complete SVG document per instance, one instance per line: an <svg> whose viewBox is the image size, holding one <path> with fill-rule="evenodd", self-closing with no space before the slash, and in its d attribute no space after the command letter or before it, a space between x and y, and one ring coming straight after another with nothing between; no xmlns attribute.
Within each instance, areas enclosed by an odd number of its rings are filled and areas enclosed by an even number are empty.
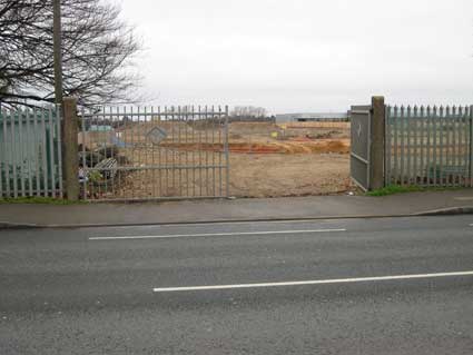
<svg viewBox="0 0 473 355"><path fill-rule="evenodd" d="M154 103L473 103L472 0L120 1Z"/></svg>

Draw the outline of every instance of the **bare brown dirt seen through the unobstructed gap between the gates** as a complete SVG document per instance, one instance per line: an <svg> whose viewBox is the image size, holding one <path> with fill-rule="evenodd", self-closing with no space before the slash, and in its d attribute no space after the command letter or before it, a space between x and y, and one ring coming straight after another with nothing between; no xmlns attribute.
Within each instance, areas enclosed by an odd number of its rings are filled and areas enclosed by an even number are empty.
<svg viewBox="0 0 473 355"><path fill-rule="evenodd" d="M348 122L233 122L230 193L237 197L328 195L349 188Z"/></svg>

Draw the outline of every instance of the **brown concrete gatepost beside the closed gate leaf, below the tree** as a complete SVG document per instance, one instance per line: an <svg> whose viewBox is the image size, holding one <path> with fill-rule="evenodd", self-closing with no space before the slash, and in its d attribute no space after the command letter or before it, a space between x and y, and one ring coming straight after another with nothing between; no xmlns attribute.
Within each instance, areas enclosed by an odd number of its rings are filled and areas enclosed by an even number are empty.
<svg viewBox="0 0 473 355"><path fill-rule="evenodd" d="M79 157L78 157L78 119L77 119L77 99L63 99L63 125L62 125L62 166L65 191L68 200L79 199Z"/></svg>

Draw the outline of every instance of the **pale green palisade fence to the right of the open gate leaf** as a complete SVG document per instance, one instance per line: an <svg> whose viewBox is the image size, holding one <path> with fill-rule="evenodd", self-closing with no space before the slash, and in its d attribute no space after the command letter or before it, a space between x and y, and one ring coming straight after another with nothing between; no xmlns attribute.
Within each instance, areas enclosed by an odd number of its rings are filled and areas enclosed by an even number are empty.
<svg viewBox="0 0 473 355"><path fill-rule="evenodd" d="M471 187L472 107L387 107L385 184Z"/></svg>

